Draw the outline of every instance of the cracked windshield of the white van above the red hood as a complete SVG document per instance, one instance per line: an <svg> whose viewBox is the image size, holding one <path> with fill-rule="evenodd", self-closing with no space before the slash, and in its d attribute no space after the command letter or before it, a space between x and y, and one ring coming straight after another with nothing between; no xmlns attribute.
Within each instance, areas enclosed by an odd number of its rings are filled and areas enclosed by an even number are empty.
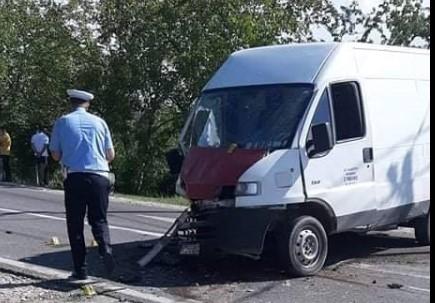
<svg viewBox="0 0 435 303"><path fill-rule="evenodd" d="M268 85L205 92L182 138L186 147L289 147L313 85Z"/></svg>

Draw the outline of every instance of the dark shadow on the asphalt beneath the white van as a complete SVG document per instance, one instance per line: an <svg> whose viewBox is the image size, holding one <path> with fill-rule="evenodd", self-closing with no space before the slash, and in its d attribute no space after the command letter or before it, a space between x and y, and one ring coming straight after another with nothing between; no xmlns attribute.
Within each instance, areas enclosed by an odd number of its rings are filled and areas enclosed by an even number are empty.
<svg viewBox="0 0 435 303"><path fill-rule="evenodd" d="M288 279L280 270L273 254L266 254L259 261L237 256L204 260L178 257L175 247L169 247L147 267L139 268L136 261L146 254L150 244L152 241L115 245L113 250L117 269L111 277L105 275L96 249L91 248L88 254L90 274L132 286L164 288ZM383 234L335 235L330 238L327 266L355 258L368 258L391 248L398 249L399 254L400 249L407 249L404 253L409 253L409 249L417 248L417 243L413 238L388 237ZM63 270L71 268L69 250L43 254L24 261Z"/></svg>

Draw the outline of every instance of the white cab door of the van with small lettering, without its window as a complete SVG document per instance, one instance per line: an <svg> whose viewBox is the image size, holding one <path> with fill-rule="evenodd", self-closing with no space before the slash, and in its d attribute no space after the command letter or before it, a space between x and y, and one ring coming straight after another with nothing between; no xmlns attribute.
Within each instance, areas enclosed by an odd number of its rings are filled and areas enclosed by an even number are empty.
<svg viewBox="0 0 435 303"><path fill-rule="evenodd" d="M334 148L322 157L310 158L306 142L320 96L333 83L351 81L358 82L364 102L364 86L360 80L353 44L340 45L329 57L316 79L318 95L311 105L299 139L307 199L324 201L332 208L338 219L338 231L376 222L373 215L377 210L373 190L373 166L364 163L363 157L363 150L372 147L370 115L364 108L366 134L363 138L336 143Z"/></svg>

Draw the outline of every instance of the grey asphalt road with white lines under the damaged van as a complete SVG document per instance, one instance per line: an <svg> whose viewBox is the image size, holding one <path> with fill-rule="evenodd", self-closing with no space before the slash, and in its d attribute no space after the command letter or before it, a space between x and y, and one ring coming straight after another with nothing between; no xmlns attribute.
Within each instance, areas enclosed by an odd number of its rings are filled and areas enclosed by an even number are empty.
<svg viewBox="0 0 435 303"><path fill-rule="evenodd" d="M291 278L273 254L260 261L225 256L181 259L171 247L144 269L136 261L165 232L179 209L111 201L109 222L118 267L109 277L141 291L164 291L203 302L429 302L430 247L411 229L330 239L327 267ZM70 269L61 192L0 185L0 256ZM86 231L90 272L104 277ZM60 245L50 244L57 237Z"/></svg>

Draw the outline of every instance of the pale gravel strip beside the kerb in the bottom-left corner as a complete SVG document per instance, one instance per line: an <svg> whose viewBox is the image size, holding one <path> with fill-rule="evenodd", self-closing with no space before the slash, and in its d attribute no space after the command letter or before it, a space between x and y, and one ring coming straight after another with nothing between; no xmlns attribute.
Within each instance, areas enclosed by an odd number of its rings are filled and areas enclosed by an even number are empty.
<svg viewBox="0 0 435 303"><path fill-rule="evenodd" d="M0 303L112 303L121 302L106 296L86 297L79 286L65 281L39 280L0 271ZM128 303L128 301L122 301Z"/></svg>

